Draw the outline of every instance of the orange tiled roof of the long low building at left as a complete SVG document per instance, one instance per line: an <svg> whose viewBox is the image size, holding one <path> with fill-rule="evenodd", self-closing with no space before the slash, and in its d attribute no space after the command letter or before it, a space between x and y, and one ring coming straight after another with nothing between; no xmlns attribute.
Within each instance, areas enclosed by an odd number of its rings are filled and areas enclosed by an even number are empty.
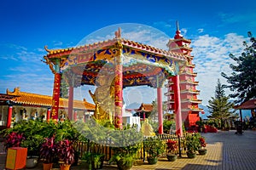
<svg viewBox="0 0 256 170"><path fill-rule="evenodd" d="M7 89L6 95L12 96L12 98L9 99L9 101L17 105L31 105L38 107L50 107L52 105L51 96L20 92L20 88L15 88L14 92L10 92L9 89ZM60 108L67 107L68 99L60 98ZM95 105L90 104L85 99L84 101L73 100L73 108L77 110L94 111Z"/></svg>

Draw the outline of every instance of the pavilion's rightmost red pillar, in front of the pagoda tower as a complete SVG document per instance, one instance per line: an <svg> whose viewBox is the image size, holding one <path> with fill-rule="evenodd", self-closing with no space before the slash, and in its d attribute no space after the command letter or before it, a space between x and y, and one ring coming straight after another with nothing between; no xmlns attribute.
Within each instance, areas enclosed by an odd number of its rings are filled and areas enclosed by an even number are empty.
<svg viewBox="0 0 256 170"><path fill-rule="evenodd" d="M175 104L175 121L176 121L176 133L179 136L183 136L183 122L181 116L181 99L180 99L180 87L179 76L172 77L173 90L174 90L174 104Z"/></svg>

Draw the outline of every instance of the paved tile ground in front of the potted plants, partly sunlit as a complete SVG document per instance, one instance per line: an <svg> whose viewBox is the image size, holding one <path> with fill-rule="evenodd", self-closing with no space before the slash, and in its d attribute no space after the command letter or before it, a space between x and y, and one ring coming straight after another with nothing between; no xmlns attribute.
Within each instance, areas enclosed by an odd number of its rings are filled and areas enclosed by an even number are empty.
<svg viewBox="0 0 256 170"><path fill-rule="evenodd" d="M157 164L148 165L147 162L137 162L132 170L255 170L256 169L256 131L245 131L236 135L235 131L219 131L218 133L202 133L207 139L207 155L196 156L194 159L183 155L177 161L167 161L160 158ZM4 169L5 155L0 148L0 170ZM31 170L42 170L42 164ZM58 170L59 168L53 168ZM88 169L84 166L71 167L72 170ZM114 165L105 165L104 170L117 169Z"/></svg>

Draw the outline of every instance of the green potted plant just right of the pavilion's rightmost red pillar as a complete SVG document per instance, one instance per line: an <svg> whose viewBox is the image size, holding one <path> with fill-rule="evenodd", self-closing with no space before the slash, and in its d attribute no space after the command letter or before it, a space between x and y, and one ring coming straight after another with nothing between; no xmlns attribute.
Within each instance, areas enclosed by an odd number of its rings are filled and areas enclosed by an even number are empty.
<svg viewBox="0 0 256 170"><path fill-rule="evenodd" d="M194 133L192 135L186 136L185 141L187 146L187 156L189 158L195 158L196 151L199 150L201 147L199 141L199 133Z"/></svg>

